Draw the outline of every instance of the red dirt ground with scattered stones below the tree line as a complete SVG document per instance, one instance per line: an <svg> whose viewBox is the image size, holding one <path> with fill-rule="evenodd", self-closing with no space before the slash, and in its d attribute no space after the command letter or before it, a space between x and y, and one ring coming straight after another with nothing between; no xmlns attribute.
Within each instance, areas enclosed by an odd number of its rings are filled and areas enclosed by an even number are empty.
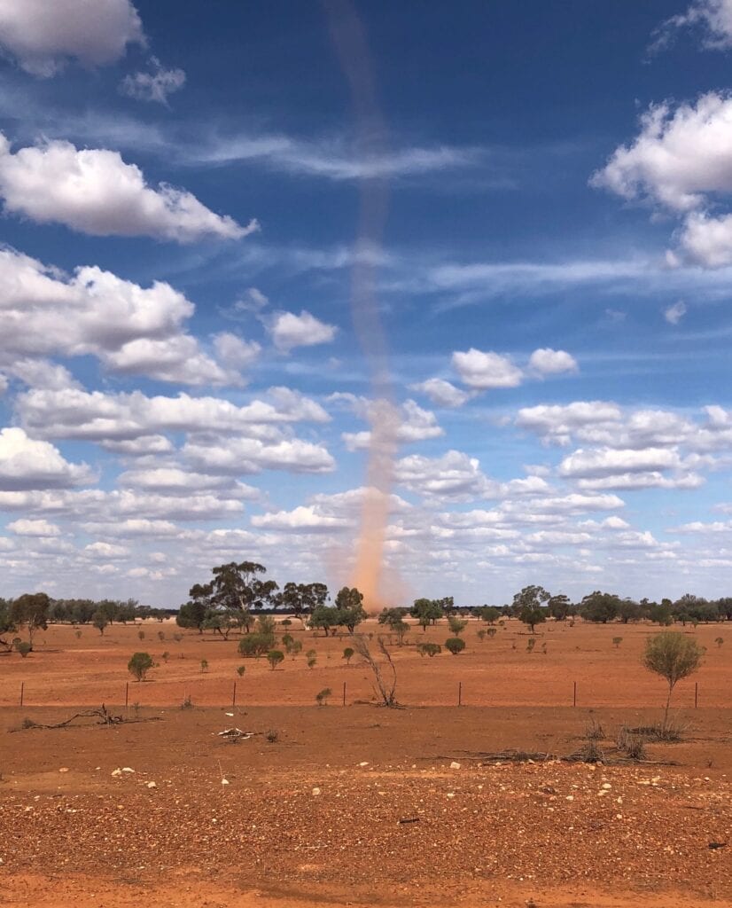
<svg viewBox="0 0 732 908"><path fill-rule="evenodd" d="M0 904L732 904L732 637L714 643L725 627L696 631L708 653L675 694L684 741L649 745L641 764L616 763L614 735L659 717L664 685L639 665L653 627L545 625L531 654L517 622L484 642L477 627L461 656L393 648L399 710L354 705L373 694L363 666L341 658L345 637L298 631L317 666L300 655L271 671L242 660L235 639L185 632L176 641L171 623L115 626L104 637L85 627L79 639L49 628L27 659L0 657ZM408 636L443 643L448 634ZM130 684L129 722L22 727L123 703L137 649L160 666L149 683ZM461 681L467 706L458 709ZM21 682L22 708L13 705ZM318 708L325 686L331 706ZM181 710L186 694L194 708ZM570 755L590 718L604 729L605 765L486 756ZM232 724L258 734L233 745L217 735ZM112 775L118 767L135 772Z"/></svg>

